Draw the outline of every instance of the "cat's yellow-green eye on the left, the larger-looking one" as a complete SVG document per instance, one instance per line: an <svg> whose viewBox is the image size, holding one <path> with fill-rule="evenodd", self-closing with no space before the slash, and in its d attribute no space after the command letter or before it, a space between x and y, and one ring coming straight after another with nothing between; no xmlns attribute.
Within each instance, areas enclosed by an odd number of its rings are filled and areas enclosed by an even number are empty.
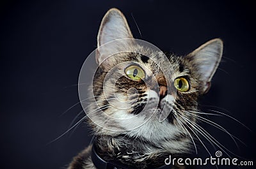
<svg viewBox="0 0 256 169"><path fill-rule="evenodd" d="M129 66L125 69L125 74L127 77L131 78L132 80L139 81L142 78L145 78L144 71L139 66Z"/></svg>

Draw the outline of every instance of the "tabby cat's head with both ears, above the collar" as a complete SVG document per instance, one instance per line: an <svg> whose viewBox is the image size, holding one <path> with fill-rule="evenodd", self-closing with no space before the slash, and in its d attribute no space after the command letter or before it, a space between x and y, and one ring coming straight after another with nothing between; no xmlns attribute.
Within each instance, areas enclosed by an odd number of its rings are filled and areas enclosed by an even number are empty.
<svg viewBox="0 0 256 169"><path fill-rule="evenodd" d="M222 41L208 41L185 56L164 54L135 40L116 9L104 16L97 41L95 101L88 110L96 135L122 134L185 151L198 97L209 90L221 60Z"/></svg>

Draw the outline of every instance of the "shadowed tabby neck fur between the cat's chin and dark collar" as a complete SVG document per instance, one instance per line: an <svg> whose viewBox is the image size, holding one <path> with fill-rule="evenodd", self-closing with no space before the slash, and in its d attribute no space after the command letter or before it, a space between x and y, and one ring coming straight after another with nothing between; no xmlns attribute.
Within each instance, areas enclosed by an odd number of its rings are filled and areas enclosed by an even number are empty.
<svg viewBox="0 0 256 169"><path fill-rule="evenodd" d="M154 143L125 135L97 136L95 147L100 157L106 161L121 161L134 168L157 168L163 166L170 152L161 150Z"/></svg>

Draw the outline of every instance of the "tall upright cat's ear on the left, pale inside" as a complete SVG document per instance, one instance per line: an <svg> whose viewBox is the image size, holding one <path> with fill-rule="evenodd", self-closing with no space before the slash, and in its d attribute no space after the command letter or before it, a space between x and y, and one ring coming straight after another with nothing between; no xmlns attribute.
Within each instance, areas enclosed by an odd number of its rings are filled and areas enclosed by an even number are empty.
<svg viewBox="0 0 256 169"><path fill-rule="evenodd" d="M109 55L118 52L115 47L115 43L111 44L110 48L108 45L104 44L109 43L110 41L122 40L127 38L133 38L131 30L127 24L127 20L125 19L123 13L120 10L116 8L111 8L103 17L100 24L100 29L97 37L97 63L101 63L107 57L109 57ZM120 43L125 42L120 41ZM118 45L125 46L126 44Z"/></svg>

